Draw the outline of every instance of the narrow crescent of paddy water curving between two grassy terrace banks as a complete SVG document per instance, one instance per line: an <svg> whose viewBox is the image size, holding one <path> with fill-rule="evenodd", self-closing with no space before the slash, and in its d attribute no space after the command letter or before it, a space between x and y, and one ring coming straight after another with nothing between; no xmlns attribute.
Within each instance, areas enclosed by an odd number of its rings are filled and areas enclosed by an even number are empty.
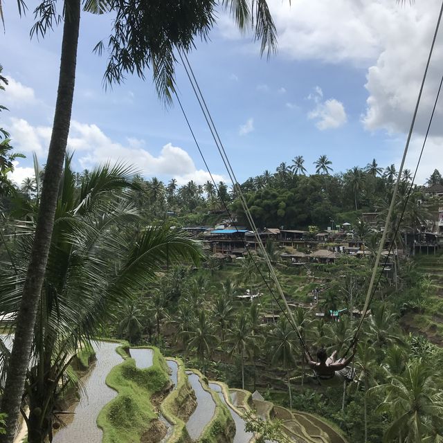
<svg viewBox="0 0 443 443"><path fill-rule="evenodd" d="M215 413L215 401L210 393L201 386L200 378L194 372L186 372L197 397L197 408L186 423L191 440L198 440L205 426Z"/></svg>

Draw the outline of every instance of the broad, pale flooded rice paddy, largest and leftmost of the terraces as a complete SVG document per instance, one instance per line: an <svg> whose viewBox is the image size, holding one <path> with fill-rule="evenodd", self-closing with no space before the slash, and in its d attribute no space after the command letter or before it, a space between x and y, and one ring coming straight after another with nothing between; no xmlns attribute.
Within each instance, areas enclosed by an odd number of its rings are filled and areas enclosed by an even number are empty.
<svg viewBox="0 0 443 443"><path fill-rule="evenodd" d="M100 342L93 347L97 361L89 377L83 381L80 403L75 407L72 422L55 433L54 443L102 442L102 430L96 423L98 413L117 395L107 386L105 379L114 366L122 363L122 358L116 353L118 343Z"/></svg>

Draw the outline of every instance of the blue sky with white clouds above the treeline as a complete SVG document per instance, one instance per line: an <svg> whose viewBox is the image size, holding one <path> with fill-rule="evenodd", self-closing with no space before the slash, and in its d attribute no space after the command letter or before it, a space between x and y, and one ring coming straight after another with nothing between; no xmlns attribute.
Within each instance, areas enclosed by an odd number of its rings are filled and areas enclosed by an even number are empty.
<svg viewBox="0 0 443 443"><path fill-rule="evenodd" d="M364 168L372 159L398 167L413 116L440 4L436 0L268 0L278 30L278 53L260 57L251 33L239 33L224 10L209 42L197 42L190 63L239 181L275 172L301 155L309 173L327 155L334 172ZM289 4L291 3L291 4ZM61 8L62 2L59 2ZM19 17L3 2L0 64L9 80L0 114L17 152L17 183L33 176L32 153L46 162L57 92L62 26L33 37L32 5ZM105 161L133 164L147 179L179 184L209 179L181 110L159 100L150 73L103 87L106 55L92 49L106 39L110 15L82 14L68 147L75 170ZM415 169L443 66L437 36L406 168ZM182 66L177 87L192 129L216 180L227 174ZM417 174L424 183L443 172L443 108L439 101Z"/></svg>

